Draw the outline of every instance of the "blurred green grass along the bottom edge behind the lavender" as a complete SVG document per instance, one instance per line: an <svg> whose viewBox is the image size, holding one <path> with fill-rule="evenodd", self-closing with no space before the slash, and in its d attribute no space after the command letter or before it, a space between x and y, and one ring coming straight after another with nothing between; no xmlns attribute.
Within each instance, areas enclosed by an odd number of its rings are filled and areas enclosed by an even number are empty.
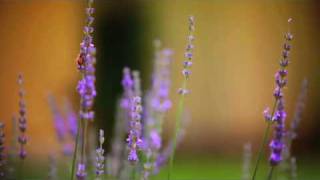
<svg viewBox="0 0 320 180"><path fill-rule="evenodd" d="M320 163L317 159L298 157L298 179L299 180L319 180ZM60 163L61 165L61 163ZM201 154L177 155L172 180L241 180L242 160L240 157L212 156ZM24 175L28 178L23 180L43 180L47 177L48 165L44 163L26 164ZM265 180L269 168L265 161L261 162L261 171L257 175L257 180ZM275 170L273 180L277 178ZM63 164L59 168L60 179L68 179L69 172ZM159 175L151 180L164 180L167 178L168 168L162 169Z"/></svg>

